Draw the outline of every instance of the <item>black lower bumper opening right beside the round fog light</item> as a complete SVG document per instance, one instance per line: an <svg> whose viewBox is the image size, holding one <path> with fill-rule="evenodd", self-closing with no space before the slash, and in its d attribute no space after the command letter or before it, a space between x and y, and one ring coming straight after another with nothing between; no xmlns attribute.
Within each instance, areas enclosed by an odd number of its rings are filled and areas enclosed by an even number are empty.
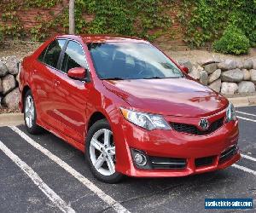
<svg viewBox="0 0 256 213"><path fill-rule="evenodd" d="M153 169L182 170L187 166L185 158L148 157Z"/></svg>

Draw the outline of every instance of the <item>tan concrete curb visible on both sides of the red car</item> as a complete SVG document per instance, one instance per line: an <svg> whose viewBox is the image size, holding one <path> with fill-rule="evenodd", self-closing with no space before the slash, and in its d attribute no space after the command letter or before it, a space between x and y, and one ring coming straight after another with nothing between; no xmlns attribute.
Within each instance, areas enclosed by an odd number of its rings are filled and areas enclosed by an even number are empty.
<svg viewBox="0 0 256 213"><path fill-rule="evenodd" d="M256 106L256 95L247 97L228 98L235 107ZM23 113L0 114L0 126L24 124Z"/></svg>

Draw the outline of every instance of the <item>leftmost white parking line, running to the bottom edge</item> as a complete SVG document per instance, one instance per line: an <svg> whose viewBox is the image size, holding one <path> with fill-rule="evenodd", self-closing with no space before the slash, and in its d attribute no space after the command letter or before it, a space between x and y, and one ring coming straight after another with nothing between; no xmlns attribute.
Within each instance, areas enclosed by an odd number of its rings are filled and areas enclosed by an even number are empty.
<svg viewBox="0 0 256 213"><path fill-rule="evenodd" d="M61 211L73 213L73 210L63 199L59 197L44 181L38 176L38 174L32 170L32 168L22 161L15 153L10 151L2 141L0 141L0 149L5 153L16 165L23 170L27 176L41 189L41 191L57 206Z"/></svg>

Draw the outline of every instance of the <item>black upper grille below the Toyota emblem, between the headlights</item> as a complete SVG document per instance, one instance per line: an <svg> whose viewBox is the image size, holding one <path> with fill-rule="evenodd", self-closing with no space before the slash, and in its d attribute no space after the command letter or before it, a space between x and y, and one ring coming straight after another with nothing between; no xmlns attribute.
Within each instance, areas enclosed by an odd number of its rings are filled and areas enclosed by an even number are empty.
<svg viewBox="0 0 256 213"><path fill-rule="evenodd" d="M191 135L208 135L212 132L218 130L224 123L224 118L220 118L212 124L210 124L209 128L205 131L199 130L195 125L192 124L181 124L181 123L173 123L171 122L171 126L173 130L176 130L178 132L185 132Z"/></svg>

